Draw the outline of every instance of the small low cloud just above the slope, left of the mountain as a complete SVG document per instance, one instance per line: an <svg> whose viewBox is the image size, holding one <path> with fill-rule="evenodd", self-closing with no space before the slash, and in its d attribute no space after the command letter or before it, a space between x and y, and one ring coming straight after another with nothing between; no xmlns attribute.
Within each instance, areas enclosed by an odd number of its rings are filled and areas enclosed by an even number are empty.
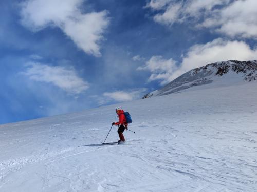
<svg viewBox="0 0 257 192"><path fill-rule="evenodd" d="M103 96L107 98L107 101L108 99L111 99L118 102L123 102L123 101L131 101L131 100L139 99L141 98L142 94L145 93L146 91L147 89L143 88L138 90L130 90L127 92L125 91L105 92Z"/></svg>

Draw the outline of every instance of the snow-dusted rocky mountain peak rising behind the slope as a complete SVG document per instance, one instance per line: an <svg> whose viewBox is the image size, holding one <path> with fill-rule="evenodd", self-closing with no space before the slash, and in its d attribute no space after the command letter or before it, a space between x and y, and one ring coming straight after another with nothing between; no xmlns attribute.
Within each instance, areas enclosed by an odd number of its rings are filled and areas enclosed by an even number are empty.
<svg viewBox="0 0 257 192"><path fill-rule="evenodd" d="M163 88L153 91L143 96L168 95L181 91L206 89L210 87L230 86L236 83L257 80L257 61L237 61L229 60L215 62L204 67L193 69L175 80L168 83ZM209 86L206 86L208 85ZM196 86L201 86L200 88Z"/></svg>

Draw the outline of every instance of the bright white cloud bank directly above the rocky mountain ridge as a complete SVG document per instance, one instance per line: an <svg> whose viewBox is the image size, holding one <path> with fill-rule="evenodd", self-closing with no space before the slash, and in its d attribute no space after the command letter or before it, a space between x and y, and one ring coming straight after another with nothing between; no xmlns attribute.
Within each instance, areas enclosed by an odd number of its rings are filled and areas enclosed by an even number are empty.
<svg viewBox="0 0 257 192"><path fill-rule="evenodd" d="M215 39L207 44L198 44L191 47L182 62L177 67L176 62L171 59L165 60L161 56L153 56L144 67L152 72L149 81L160 80L161 84L168 83L183 73L194 68L205 66L208 63L225 60L256 60L257 49L251 49L244 41L228 41L221 38Z"/></svg>

